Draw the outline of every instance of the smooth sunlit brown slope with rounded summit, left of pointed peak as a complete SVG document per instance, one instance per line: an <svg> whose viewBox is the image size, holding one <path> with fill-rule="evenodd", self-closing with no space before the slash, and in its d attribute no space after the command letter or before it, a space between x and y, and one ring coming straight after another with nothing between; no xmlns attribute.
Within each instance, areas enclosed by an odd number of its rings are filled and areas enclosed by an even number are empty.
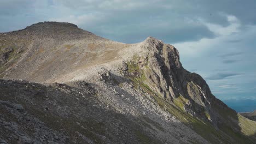
<svg viewBox="0 0 256 144"><path fill-rule="evenodd" d="M2 77L33 82L66 82L59 79L68 76L69 80L71 72L120 61L136 50L136 46L98 37L69 23L37 23L0 37L3 55L7 55L1 63L7 65L0 71Z"/></svg>

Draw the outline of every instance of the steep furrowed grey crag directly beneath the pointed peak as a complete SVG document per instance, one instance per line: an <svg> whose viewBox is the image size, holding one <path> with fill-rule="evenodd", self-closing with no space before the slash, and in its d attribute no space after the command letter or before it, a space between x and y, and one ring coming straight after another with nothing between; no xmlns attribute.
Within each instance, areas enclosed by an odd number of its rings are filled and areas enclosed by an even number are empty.
<svg viewBox="0 0 256 144"><path fill-rule="evenodd" d="M178 95L179 87L177 76L174 75L183 69L177 49L151 37L146 39L143 48L149 51L142 68L145 69L148 83L154 83L154 89L164 98L173 99Z"/></svg>

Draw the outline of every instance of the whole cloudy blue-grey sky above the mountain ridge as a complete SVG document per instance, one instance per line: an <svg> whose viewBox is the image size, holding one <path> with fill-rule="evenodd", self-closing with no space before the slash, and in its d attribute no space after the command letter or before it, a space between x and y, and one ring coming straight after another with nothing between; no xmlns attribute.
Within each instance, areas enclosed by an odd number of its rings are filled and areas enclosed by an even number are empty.
<svg viewBox="0 0 256 144"><path fill-rule="evenodd" d="M0 32L70 22L101 37L149 35L179 51L183 67L238 112L256 110L255 0L1 0Z"/></svg>

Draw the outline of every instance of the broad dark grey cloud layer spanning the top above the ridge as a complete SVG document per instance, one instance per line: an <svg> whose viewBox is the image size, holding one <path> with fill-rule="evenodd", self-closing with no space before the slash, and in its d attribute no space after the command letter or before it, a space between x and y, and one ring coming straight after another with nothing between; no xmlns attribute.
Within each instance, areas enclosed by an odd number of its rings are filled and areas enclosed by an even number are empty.
<svg viewBox="0 0 256 144"><path fill-rule="evenodd" d="M9 0L0 1L0 18L4 20L0 32L18 30L20 27L31 25L31 22L62 19L74 15L77 20L65 19L65 22L77 22L75 24L83 29L124 43L136 43L149 35L167 43L181 43L216 37L205 25L198 22L198 19L228 26L230 23L226 20L226 15L234 15L243 23L254 23L255 15L249 12L254 10L255 4L252 0L234 0L232 7L230 1L220 0ZM32 16L27 16L30 14ZM91 19L81 19L88 14ZM6 18L7 15L17 15L19 18ZM103 15L104 19L94 21L98 15ZM23 21L20 23L21 20Z"/></svg>

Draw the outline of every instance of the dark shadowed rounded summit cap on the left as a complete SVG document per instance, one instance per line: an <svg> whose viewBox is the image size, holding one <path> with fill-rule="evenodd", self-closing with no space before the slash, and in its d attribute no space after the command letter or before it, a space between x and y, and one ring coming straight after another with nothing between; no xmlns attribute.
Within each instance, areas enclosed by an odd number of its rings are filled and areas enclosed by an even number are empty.
<svg viewBox="0 0 256 144"><path fill-rule="evenodd" d="M73 23L53 21L34 23L25 29L9 32L9 34L13 35L13 37L19 35L19 37L25 39L39 39L41 41L44 41L42 39L51 39L59 42L60 40L64 42L71 39L102 39L89 31L79 28Z"/></svg>

